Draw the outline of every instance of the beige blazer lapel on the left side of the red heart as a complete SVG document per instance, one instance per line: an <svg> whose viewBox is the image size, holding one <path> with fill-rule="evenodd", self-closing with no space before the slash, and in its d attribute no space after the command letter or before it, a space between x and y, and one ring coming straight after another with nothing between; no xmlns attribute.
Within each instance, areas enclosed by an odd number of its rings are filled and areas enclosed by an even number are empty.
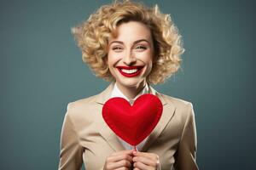
<svg viewBox="0 0 256 170"><path fill-rule="evenodd" d="M115 133L108 127L107 123L102 118L102 106L108 99L110 99L110 94L113 90L113 83L111 83L108 88L106 88L101 94L97 95L96 103L100 105L100 114L97 117L98 125L101 126L99 133L102 135L111 148L115 151L125 150L123 144L120 143L118 137Z"/></svg>

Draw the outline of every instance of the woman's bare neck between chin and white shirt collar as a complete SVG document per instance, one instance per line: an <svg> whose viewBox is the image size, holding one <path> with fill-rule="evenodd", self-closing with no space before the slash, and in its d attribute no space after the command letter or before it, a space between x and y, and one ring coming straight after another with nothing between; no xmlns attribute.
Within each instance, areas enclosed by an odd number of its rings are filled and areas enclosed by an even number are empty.
<svg viewBox="0 0 256 170"><path fill-rule="evenodd" d="M117 83L119 90L123 94L125 94L125 96L128 99L134 99L137 96L137 94L139 94L140 91L143 90L145 85L146 85L146 81L143 81L143 82L139 83L137 86L132 86L132 87L126 87L126 86L123 86L123 85L120 85L119 83Z"/></svg>

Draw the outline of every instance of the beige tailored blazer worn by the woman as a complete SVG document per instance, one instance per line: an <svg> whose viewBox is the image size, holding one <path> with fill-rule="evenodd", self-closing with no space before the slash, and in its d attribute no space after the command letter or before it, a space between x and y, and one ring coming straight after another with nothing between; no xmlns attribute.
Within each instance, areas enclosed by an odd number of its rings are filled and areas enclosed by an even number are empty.
<svg viewBox="0 0 256 170"><path fill-rule="evenodd" d="M125 150L102 118L102 105L110 98L113 83L101 94L67 105L61 130L59 170L103 169L107 156ZM197 170L195 116L191 103L160 94L163 113L142 151L160 156L162 170Z"/></svg>

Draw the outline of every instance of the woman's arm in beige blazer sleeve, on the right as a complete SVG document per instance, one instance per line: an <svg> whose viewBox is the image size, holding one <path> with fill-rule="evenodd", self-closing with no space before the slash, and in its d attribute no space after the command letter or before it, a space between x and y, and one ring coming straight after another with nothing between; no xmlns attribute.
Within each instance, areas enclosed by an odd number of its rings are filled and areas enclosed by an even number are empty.
<svg viewBox="0 0 256 170"><path fill-rule="evenodd" d="M187 109L187 118L183 127L183 133L177 149L176 162L177 170L198 170L195 162L196 153L196 129L193 105Z"/></svg>

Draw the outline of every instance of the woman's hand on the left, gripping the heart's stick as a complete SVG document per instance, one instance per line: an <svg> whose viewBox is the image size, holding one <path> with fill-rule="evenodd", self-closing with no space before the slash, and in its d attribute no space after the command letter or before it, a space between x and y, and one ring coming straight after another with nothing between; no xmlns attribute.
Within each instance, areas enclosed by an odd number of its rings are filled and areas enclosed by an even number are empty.
<svg viewBox="0 0 256 170"><path fill-rule="evenodd" d="M104 170L129 170L132 165L132 151L121 150L108 156L105 161Z"/></svg>

